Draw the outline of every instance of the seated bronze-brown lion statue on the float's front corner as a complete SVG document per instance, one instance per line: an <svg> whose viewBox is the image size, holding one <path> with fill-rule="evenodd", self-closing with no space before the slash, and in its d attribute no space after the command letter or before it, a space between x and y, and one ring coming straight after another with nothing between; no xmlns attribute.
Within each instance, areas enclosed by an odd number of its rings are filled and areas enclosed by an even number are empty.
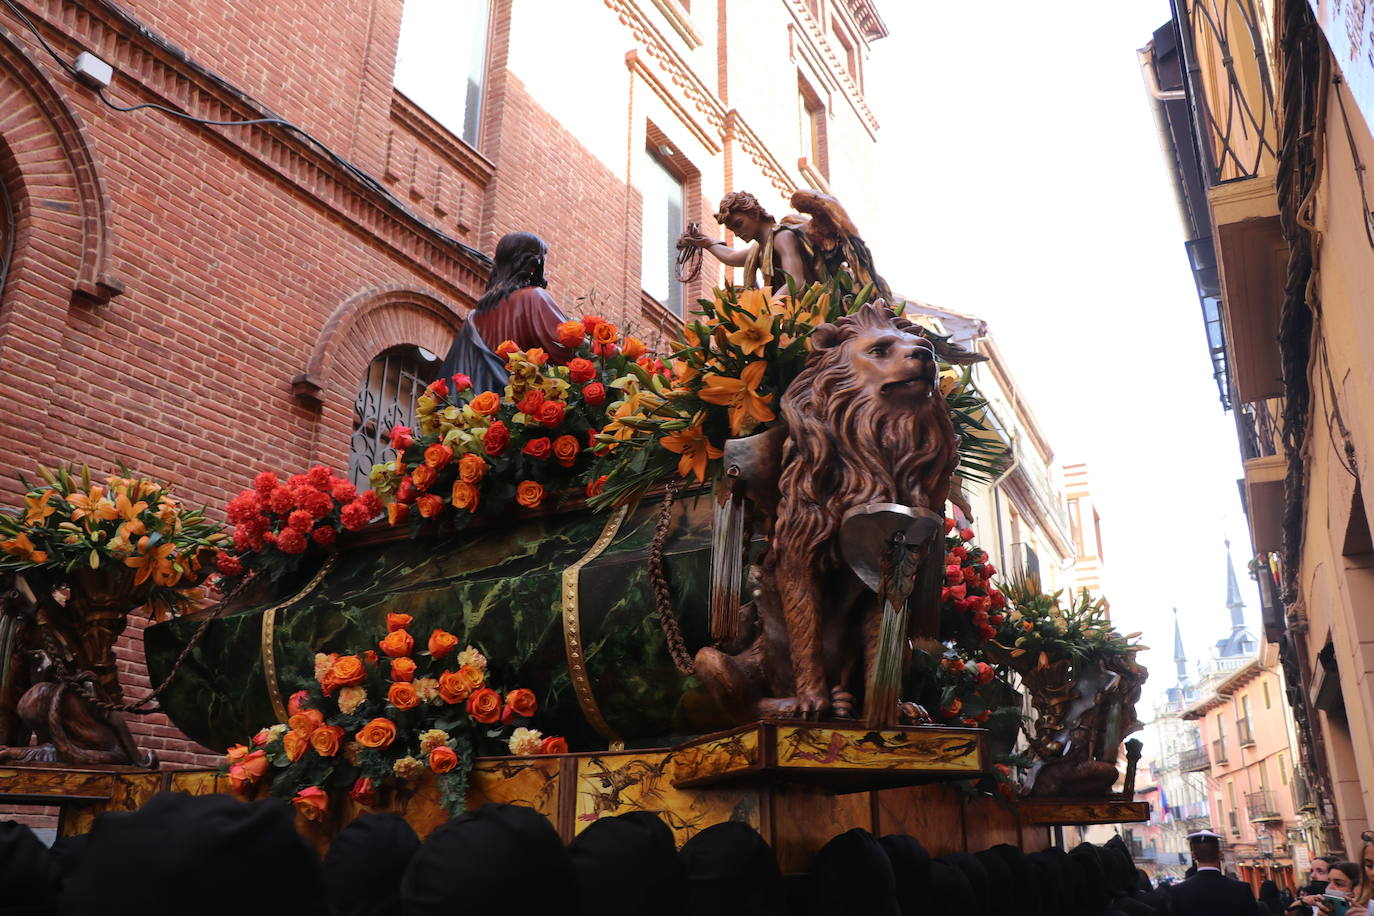
<svg viewBox="0 0 1374 916"><path fill-rule="evenodd" d="M695 658L697 676L738 721L856 714L881 608L841 556L841 519L874 503L943 514L958 464L936 353L915 325L878 302L811 341L780 400L786 427L736 439L725 456L771 529L736 645ZM926 604L914 608L908 636L936 634L938 603Z"/></svg>

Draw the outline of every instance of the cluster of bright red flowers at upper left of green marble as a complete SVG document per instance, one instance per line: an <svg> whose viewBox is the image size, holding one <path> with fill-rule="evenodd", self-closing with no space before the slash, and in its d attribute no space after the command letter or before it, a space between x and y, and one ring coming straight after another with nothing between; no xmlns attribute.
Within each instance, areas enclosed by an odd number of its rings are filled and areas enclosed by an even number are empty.
<svg viewBox="0 0 1374 916"><path fill-rule="evenodd" d="M216 558L220 574L229 581L253 571L279 578L311 544L328 548L339 531L365 527L381 512L376 493L359 493L323 464L286 481L262 471L251 489L229 500L234 545Z"/></svg>

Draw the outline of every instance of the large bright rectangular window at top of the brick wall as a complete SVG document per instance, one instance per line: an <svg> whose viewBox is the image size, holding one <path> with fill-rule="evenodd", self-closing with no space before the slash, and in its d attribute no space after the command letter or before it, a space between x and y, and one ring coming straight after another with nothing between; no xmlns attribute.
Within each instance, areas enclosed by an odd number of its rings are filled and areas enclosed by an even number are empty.
<svg viewBox="0 0 1374 916"><path fill-rule="evenodd" d="M488 0L405 0L393 82L469 146L477 146L486 71Z"/></svg>

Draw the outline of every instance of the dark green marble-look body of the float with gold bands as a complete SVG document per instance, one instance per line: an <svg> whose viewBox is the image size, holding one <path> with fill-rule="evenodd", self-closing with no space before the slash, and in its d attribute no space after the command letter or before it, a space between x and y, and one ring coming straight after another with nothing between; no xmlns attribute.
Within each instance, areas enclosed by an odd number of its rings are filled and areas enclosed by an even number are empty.
<svg viewBox="0 0 1374 916"><path fill-rule="evenodd" d="M668 655L649 582L649 549L660 504L646 503L618 536L581 570L581 626L587 669L610 725L631 746L662 744L723 725L694 678ZM706 643L710 580L709 497L673 507L665 569L690 650ZM603 748L572 692L563 650L562 574L592 545L606 522L591 512L548 515L510 527L444 538L354 548L300 603L278 611L278 680L282 695L304 687L316 651L375 647L387 612L415 617L423 644L434 628L455 633L491 659L497 683L536 691L547 731L574 750ZM242 742L276 721L264 677L262 612L309 580L302 571L276 595L213 622L161 702L172 721L214 748ZM154 683L170 670L199 626L195 619L148 628L144 637Z"/></svg>

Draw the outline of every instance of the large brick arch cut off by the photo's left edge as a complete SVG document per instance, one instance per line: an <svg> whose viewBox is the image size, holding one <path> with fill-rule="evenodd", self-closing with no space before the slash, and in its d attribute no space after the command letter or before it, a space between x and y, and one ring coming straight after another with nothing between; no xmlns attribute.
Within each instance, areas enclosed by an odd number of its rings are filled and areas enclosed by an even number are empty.
<svg viewBox="0 0 1374 916"><path fill-rule="evenodd" d="M109 273L109 196L85 124L51 71L0 26L0 158L22 213L11 280L49 277L65 295L107 302L122 291ZM25 244L27 239L41 244ZM30 291L30 294L37 291Z"/></svg>

